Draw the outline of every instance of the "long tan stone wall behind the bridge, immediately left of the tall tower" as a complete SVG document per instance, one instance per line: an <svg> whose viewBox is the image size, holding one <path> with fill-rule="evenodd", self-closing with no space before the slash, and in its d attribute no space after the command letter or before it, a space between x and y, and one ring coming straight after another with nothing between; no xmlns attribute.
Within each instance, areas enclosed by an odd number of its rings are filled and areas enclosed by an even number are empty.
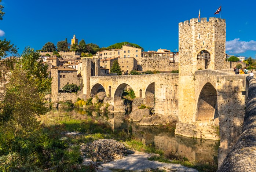
<svg viewBox="0 0 256 172"><path fill-rule="evenodd" d="M139 58L136 58L136 60L138 61L137 68L140 71L146 71L146 70L172 71L172 70L179 69L178 61L175 63L172 63L170 62L170 58L166 56L139 57Z"/></svg>

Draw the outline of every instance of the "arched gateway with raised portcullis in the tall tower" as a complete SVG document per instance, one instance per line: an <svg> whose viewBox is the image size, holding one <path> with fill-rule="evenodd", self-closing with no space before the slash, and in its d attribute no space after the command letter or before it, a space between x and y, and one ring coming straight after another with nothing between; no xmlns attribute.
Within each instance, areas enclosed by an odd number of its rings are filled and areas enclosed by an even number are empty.
<svg viewBox="0 0 256 172"><path fill-rule="evenodd" d="M197 54L197 69L208 69L211 61L211 54L206 50L201 50Z"/></svg>

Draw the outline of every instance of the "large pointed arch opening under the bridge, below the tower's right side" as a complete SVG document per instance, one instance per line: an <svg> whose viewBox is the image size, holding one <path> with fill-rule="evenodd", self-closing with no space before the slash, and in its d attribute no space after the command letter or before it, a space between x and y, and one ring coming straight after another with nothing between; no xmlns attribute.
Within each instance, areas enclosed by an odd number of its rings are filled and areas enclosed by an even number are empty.
<svg viewBox="0 0 256 172"><path fill-rule="evenodd" d="M198 98L196 121L209 123L218 117L216 89L212 84L206 83Z"/></svg>

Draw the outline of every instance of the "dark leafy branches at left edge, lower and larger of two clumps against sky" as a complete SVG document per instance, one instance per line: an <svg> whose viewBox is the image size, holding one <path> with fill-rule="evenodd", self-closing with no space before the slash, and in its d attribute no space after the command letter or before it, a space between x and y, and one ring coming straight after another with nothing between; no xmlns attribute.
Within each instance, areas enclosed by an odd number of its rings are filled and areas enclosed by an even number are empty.
<svg viewBox="0 0 256 172"><path fill-rule="evenodd" d="M1 58L5 58L8 54L19 56L17 46L14 46L14 44L11 44L11 41L7 41L6 39L0 40L0 60Z"/></svg>

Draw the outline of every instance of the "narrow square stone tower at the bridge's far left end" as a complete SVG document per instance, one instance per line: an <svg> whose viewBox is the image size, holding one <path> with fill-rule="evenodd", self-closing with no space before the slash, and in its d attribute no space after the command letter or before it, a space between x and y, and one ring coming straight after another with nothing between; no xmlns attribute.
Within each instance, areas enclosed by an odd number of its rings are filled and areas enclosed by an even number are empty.
<svg viewBox="0 0 256 172"><path fill-rule="evenodd" d="M99 59L84 58L82 61L83 66L83 94L86 98L90 97L90 77L99 76L100 65Z"/></svg>

